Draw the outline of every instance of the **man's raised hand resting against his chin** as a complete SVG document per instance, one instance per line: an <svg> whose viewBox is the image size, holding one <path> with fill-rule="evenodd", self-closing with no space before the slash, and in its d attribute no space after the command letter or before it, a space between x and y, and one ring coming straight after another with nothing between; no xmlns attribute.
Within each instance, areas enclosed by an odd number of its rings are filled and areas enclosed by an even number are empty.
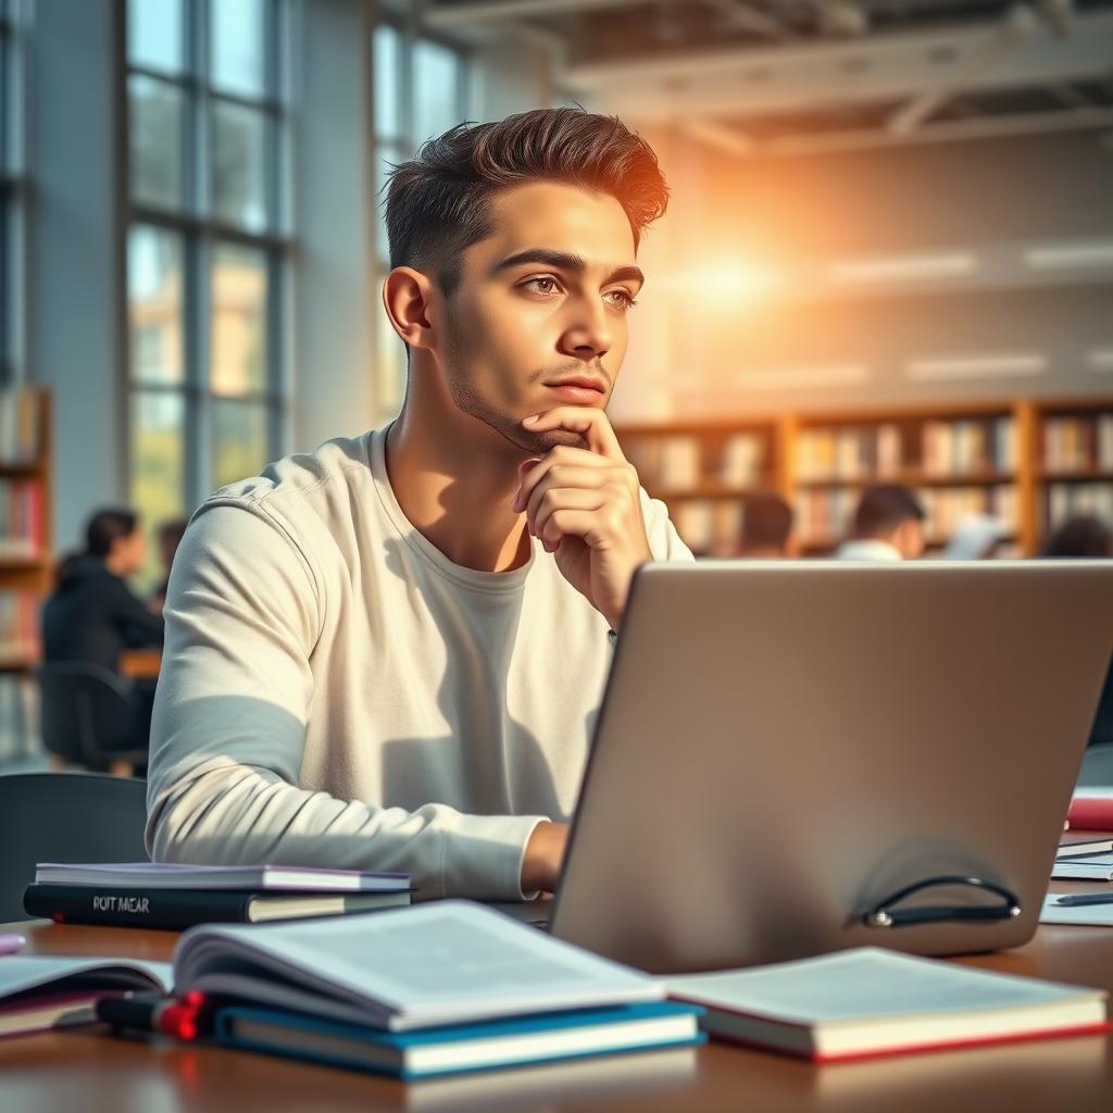
<svg viewBox="0 0 1113 1113"><path fill-rule="evenodd" d="M630 580L652 558L641 516L640 484L601 410L561 406L522 424L531 433L569 430L587 449L559 445L528 461L514 501L526 526L577 591L618 630Z"/></svg>

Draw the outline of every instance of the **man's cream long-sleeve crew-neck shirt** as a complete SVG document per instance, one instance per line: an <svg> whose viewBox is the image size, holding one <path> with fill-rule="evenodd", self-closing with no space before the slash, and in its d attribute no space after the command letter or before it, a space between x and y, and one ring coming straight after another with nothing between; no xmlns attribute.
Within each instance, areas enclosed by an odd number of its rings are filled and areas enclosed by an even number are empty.
<svg viewBox="0 0 1113 1113"><path fill-rule="evenodd" d="M148 771L157 861L408 870L420 896L516 899L569 817L607 621L533 541L452 563L387 479L386 431L218 491L174 561ZM656 559L691 559L641 495Z"/></svg>

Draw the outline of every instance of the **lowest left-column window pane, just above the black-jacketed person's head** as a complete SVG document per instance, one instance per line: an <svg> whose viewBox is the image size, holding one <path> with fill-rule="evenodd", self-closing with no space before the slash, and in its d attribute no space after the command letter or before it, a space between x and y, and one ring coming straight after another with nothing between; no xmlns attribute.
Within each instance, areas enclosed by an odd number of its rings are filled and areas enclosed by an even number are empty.
<svg viewBox="0 0 1113 1113"><path fill-rule="evenodd" d="M185 427L180 394L131 395L131 502L148 526L179 518L186 509Z"/></svg>

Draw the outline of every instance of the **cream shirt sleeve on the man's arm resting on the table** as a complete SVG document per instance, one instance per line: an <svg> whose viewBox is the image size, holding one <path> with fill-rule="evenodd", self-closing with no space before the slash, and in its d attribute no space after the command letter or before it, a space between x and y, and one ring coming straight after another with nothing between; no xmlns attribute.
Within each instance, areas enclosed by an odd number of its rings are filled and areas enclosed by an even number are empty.
<svg viewBox="0 0 1113 1113"><path fill-rule="evenodd" d="M324 598L315 577L265 510L208 504L187 530L151 726L152 859L404 870L423 898L521 899L540 817L410 811L299 787Z"/></svg>

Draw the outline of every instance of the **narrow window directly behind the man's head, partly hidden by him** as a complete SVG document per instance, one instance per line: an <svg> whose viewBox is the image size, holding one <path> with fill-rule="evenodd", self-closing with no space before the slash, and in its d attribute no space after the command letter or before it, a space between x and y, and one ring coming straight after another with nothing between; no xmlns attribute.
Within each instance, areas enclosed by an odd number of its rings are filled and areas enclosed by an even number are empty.
<svg viewBox="0 0 1113 1113"><path fill-rule="evenodd" d="M426 140L467 118L466 55L449 42L414 37L394 23L380 23L372 43L374 68L375 198L378 206L375 264L380 279L390 269L383 220L384 187L391 167L413 156ZM378 318L376 406L381 421L393 417L405 387L405 347Z"/></svg>

